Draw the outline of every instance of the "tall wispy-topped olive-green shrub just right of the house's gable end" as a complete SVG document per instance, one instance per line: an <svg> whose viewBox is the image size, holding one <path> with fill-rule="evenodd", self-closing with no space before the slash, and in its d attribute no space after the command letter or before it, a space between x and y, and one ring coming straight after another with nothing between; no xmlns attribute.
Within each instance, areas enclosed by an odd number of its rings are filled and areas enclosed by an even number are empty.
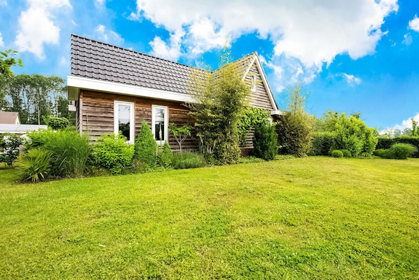
<svg viewBox="0 0 419 280"><path fill-rule="evenodd" d="M314 118L305 112L305 95L301 94L300 84L289 91L288 98L288 110L277 123L279 152L306 156L311 148Z"/></svg>

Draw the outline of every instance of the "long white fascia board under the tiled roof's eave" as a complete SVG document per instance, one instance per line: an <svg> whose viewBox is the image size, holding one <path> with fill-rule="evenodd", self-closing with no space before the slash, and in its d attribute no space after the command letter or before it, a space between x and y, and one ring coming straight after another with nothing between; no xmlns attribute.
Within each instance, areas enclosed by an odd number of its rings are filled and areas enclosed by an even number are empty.
<svg viewBox="0 0 419 280"><path fill-rule="evenodd" d="M118 93L144 98L156 98L179 102L193 102L193 98L190 95L185 95L182 93L159 91L153 88L143 88L141 86L118 84L110 81L100 81L96 79L81 78L78 76L67 76L67 86L69 88Z"/></svg>

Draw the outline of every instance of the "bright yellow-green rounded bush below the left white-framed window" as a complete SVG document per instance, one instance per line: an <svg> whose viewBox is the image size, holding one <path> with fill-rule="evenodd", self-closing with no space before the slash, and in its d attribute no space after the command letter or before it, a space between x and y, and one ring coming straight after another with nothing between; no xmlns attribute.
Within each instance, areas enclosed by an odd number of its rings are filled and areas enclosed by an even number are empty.
<svg viewBox="0 0 419 280"><path fill-rule="evenodd" d="M127 138L122 133L104 134L95 145L93 160L97 166L106 168L112 174L120 174L122 168L130 166L134 147L127 144Z"/></svg>

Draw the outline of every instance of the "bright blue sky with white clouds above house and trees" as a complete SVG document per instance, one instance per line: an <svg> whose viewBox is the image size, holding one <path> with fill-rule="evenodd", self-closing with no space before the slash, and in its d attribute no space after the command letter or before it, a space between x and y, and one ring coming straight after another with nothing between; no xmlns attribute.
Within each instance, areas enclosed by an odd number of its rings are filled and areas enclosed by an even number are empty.
<svg viewBox="0 0 419 280"><path fill-rule="evenodd" d="M70 34L217 68L217 53L257 51L275 98L298 81L307 110L362 112L367 125L419 121L418 0L0 0L0 49L15 73L65 78Z"/></svg>

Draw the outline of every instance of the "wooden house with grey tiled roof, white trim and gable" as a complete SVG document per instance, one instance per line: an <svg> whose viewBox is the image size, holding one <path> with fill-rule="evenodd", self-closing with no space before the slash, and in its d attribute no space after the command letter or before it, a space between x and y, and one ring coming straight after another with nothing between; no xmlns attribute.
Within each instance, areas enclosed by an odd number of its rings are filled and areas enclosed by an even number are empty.
<svg viewBox="0 0 419 280"><path fill-rule="evenodd" d="M270 91L266 75L256 53L237 63L242 79L252 88L250 105L266 109L272 116L281 114ZM146 121L159 145L169 142L179 149L168 131L169 124L193 125L185 102L191 75L206 74L177 62L111 46L92 39L71 35L71 76L67 76L69 100L74 101L76 126L88 132L92 140L104 133L122 131L133 143L142 121ZM252 149L252 135L243 149ZM197 141L188 138L182 149L196 150Z"/></svg>

